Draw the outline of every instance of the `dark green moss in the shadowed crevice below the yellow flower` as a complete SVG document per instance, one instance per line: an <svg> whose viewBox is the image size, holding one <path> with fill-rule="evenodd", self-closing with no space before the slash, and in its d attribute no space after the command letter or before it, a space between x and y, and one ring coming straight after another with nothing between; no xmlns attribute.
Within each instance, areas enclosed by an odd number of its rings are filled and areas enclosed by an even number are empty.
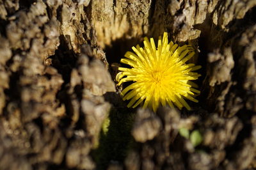
<svg viewBox="0 0 256 170"><path fill-rule="evenodd" d="M127 150L133 143L131 136L134 113L127 109L111 109L100 132L99 146L92 151L97 169L107 169L111 161L123 162Z"/></svg>

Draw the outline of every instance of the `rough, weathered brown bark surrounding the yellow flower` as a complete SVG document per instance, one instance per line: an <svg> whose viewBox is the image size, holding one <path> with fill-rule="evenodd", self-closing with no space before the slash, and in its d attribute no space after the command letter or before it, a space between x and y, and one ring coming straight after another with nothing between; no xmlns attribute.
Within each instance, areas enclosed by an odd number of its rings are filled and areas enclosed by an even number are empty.
<svg viewBox="0 0 256 170"><path fill-rule="evenodd" d="M256 168L255 16L255 0L0 0L1 169ZM128 109L115 63L164 31L198 49L199 102Z"/></svg>

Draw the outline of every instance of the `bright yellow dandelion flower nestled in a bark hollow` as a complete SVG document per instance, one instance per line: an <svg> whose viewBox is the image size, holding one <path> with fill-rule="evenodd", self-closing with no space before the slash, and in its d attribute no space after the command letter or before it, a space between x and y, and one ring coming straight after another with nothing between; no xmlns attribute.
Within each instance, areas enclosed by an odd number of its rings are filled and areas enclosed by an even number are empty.
<svg viewBox="0 0 256 170"><path fill-rule="evenodd" d="M116 75L118 86L124 82L132 84L122 90L123 100L130 100L127 107L149 107L156 112L159 105L176 105L179 109L186 107L190 110L184 98L198 102L194 97L200 91L198 86L191 82L198 79L200 74L192 72L201 66L186 64L195 54L189 45L178 47L173 42L168 43L168 35L164 33L163 39L159 37L157 49L154 39L144 38L144 47L132 47L135 52L126 52L121 63L130 65L131 68L119 67Z"/></svg>

